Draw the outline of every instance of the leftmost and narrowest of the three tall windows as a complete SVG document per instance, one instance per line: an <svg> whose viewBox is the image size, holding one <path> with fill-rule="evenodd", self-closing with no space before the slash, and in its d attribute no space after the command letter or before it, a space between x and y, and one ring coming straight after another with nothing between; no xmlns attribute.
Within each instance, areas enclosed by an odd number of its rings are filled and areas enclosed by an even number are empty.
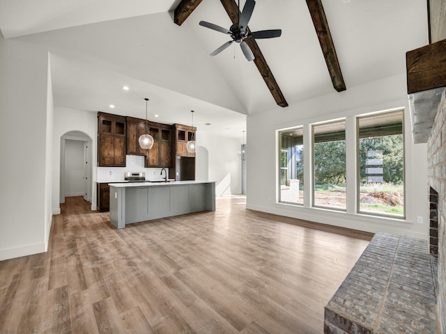
<svg viewBox="0 0 446 334"><path fill-rule="evenodd" d="M279 201L303 205L303 128L296 127L279 133L280 191Z"/></svg>

